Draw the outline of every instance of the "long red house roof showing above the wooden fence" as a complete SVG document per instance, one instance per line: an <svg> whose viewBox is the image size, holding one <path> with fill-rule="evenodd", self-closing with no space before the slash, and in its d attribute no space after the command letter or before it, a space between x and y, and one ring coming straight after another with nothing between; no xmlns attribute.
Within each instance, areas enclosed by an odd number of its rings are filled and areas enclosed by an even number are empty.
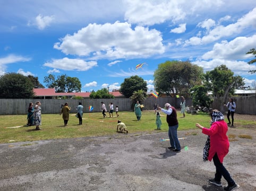
<svg viewBox="0 0 256 191"><path fill-rule="evenodd" d="M42 96L81 96L90 97L91 92L71 92L71 93L55 93L54 88L34 88L33 89L36 97ZM120 92L109 92L109 94L115 97L123 97Z"/></svg>

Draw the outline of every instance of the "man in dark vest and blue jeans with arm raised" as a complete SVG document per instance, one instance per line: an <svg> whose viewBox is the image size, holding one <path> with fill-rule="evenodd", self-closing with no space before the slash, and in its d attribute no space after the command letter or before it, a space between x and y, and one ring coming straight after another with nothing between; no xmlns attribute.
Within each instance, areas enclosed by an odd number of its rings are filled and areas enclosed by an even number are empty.
<svg viewBox="0 0 256 191"><path fill-rule="evenodd" d="M169 139L170 139L170 147L168 147L169 150L172 150L174 152L181 152L181 144L180 141L178 141L178 135L177 135L177 129L178 129L178 119L177 119L177 112L176 109L171 106L169 103L165 104L165 109L161 107L157 107L158 110L161 110L166 114L166 121L169 126Z"/></svg>

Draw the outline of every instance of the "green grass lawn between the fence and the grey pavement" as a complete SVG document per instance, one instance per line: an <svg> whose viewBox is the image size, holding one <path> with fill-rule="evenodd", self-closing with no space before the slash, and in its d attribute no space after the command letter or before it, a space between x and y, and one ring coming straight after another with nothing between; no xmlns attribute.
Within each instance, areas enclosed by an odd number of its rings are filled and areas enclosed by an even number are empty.
<svg viewBox="0 0 256 191"><path fill-rule="evenodd" d="M101 113L84 113L83 124L79 124L75 113L70 114L70 120L64 127L62 115L42 114L41 131L36 131L35 126L27 126L27 115L1 115L0 116L0 143L10 143L19 141L37 141L47 139L63 139L77 137L98 137L102 135L112 135L116 133L117 120L121 120L127 126L129 134L140 134L142 132L158 133L167 132L166 115L161 114L161 130L156 130L156 115L154 111L143 111L141 121L136 120L134 112L118 112L119 116L103 119ZM178 111L178 130L189 130L195 128L195 123L200 123L209 128L210 117L207 113L197 115L182 114ZM225 118L226 119L226 118ZM241 121L241 123L244 123ZM246 121L246 123L250 123Z"/></svg>

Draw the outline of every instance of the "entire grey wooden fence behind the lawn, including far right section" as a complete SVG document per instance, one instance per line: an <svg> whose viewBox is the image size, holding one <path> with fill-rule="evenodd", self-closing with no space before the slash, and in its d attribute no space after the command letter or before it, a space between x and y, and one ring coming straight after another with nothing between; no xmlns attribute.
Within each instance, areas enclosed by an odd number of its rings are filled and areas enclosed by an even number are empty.
<svg viewBox="0 0 256 191"><path fill-rule="evenodd" d="M217 108L221 112L227 111L227 108L223 105L226 104L223 99L216 99L212 103L211 108ZM61 105L68 103L71 107L71 113L76 113L76 107L78 103L81 102L84 107L84 112L89 113L89 106L93 106L92 112L100 112L101 102L106 104L109 110L108 104L112 102L114 108L116 105L119 107L119 111L132 111L132 102L130 98L114 98L114 99L0 99L0 115L21 115L27 114L28 105L30 102L34 103L36 101L41 102L41 112L43 114L56 114L61 110ZM236 103L236 113L238 114L251 114L256 115L256 97L237 97L234 99ZM170 103L178 110L180 109L181 98L175 97L149 97L142 104L144 105L143 110L153 110L153 105L158 104L164 107L165 103ZM186 98L186 106L192 105L192 99Z"/></svg>

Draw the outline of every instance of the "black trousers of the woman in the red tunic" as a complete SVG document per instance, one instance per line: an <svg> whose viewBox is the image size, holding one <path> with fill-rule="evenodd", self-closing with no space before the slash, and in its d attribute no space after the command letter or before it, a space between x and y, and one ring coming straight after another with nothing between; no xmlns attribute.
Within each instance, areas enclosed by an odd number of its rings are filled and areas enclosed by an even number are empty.
<svg viewBox="0 0 256 191"><path fill-rule="evenodd" d="M229 172L223 166L223 163L220 163L217 152L212 159L214 160L214 165L216 167L215 181L220 181L221 177L223 176L227 180L228 185L233 186L235 181L231 178Z"/></svg>

